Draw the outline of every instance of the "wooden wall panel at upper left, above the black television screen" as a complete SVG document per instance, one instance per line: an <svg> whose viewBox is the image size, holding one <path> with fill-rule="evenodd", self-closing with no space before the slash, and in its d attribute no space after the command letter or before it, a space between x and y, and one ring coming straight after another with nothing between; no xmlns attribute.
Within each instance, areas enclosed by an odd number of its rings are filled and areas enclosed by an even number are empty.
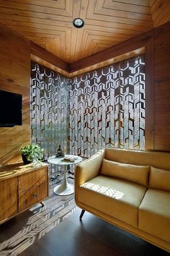
<svg viewBox="0 0 170 256"><path fill-rule="evenodd" d="M30 40L0 24L0 79L30 87Z"/></svg>

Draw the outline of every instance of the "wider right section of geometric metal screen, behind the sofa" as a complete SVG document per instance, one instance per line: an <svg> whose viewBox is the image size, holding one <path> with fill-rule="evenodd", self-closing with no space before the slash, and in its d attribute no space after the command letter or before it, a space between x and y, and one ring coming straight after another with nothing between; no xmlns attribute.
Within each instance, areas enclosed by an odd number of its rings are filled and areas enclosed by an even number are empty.
<svg viewBox="0 0 170 256"><path fill-rule="evenodd" d="M145 149L144 56L79 75L70 86L70 153Z"/></svg>

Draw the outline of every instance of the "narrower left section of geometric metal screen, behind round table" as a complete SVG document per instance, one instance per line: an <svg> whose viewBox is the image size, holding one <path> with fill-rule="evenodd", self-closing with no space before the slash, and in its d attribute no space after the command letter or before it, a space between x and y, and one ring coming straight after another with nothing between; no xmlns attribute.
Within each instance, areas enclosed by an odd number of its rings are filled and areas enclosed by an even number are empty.
<svg viewBox="0 0 170 256"><path fill-rule="evenodd" d="M68 101L69 80L32 61L32 142L45 149L45 159L56 153L58 145L68 151Z"/></svg>

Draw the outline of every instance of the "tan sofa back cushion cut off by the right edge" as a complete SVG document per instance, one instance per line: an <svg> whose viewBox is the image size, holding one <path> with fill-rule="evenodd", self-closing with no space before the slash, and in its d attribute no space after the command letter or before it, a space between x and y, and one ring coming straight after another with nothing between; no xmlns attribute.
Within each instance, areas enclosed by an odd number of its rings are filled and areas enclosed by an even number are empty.
<svg viewBox="0 0 170 256"><path fill-rule="evenodd" d="M148 187L150 189L160 189L170 192L170 171L151 166Z"/></svg>

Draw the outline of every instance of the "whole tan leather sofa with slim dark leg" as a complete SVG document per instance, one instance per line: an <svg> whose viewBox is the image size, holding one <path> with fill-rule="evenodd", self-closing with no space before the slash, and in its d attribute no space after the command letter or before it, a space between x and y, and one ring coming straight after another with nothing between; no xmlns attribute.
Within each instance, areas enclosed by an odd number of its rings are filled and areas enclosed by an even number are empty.
<svg viewBox="0 0 170 256"><path fill-rule="evenodd" d="M170 252L170 153L106 148L75 170L76 204Z"/></svg>

